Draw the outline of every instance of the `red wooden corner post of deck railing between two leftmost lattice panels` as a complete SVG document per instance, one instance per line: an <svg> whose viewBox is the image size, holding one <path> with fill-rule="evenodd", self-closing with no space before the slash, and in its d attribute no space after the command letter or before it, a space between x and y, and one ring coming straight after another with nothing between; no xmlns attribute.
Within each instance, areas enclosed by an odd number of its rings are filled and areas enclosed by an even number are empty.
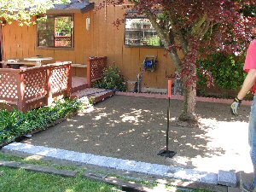
<svg viewBox="0 0 256 192"><path fill-rule="evenodd" d="M25 84L24 84L24 73L16 73L15 74L17 79L17 95L18 95L18 102L17 108L19 111L25 112L26 111L26 101L25 101Z"/></svg>

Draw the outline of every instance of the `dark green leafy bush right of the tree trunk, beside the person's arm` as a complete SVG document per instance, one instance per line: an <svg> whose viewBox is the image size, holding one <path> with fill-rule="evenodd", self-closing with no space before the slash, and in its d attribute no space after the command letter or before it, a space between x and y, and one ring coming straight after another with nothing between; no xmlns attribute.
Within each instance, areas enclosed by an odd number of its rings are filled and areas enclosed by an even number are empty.
<svg viewBox="0 0 256 192"><path fill-rule="evenodd" d="M197 61L201 69L212 73L214 84L219 88L226 90L239 90L246 73L243 71L245 54L236 56L233 54L225 55L222 52L209 55L207 59ZM197 87L201 94L207 94L204 87L207 85L205 73L201 73L200 68L197 70L198 82Z"/></svg>

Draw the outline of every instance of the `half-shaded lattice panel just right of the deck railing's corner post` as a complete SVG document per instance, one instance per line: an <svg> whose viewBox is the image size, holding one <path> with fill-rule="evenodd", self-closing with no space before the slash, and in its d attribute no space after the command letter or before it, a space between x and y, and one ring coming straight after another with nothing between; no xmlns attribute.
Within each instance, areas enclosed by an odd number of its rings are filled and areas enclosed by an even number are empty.
<svg viewBox="0 0 256 192"><path fill-rule="evenodd" d="M47 71L39 70L26 73L24 77L25 99L30 100L46 94Z"/></svg>

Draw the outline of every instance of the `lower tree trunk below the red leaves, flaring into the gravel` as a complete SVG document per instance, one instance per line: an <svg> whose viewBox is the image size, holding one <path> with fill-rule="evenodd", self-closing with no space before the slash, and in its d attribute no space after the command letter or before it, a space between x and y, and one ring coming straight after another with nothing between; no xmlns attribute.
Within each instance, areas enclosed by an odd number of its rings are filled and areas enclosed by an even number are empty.
<svg viewBox="0 0 256 192"><path fill-rule="evenodd" d="M191 123L197 122L197 118L195 116L195 96L195 84L184 86L183 112L179 116L179 120Z"/></svg>

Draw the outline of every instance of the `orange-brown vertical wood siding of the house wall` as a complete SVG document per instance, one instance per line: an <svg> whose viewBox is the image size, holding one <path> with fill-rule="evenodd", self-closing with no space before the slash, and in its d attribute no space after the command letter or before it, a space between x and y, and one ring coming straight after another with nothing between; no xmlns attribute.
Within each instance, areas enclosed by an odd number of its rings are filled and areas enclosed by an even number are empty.
<svg viewBox="0 0 256 192"><path fill-rule="evenodd" d="M97 3L97 1L95 1ZM143 87L167 88L167 75L174 73L175 67L163 48L127 47L124 45L125 25L117 29L113 20L122 18L124 9L108 6L107 9L74 14L73 49L38 49L37 26L2 26L3 60L25 58L35 55L51 56L54 61L86 63L90 56L108 56L108 65L119 67L121 74L129 81L137 80L137 73L145 55L157 55L158 67L154 72L144 72ZM86 18L90 17L90 30L85 28ZM73 75L86 76L85 69L73 70Z"/></svg>

